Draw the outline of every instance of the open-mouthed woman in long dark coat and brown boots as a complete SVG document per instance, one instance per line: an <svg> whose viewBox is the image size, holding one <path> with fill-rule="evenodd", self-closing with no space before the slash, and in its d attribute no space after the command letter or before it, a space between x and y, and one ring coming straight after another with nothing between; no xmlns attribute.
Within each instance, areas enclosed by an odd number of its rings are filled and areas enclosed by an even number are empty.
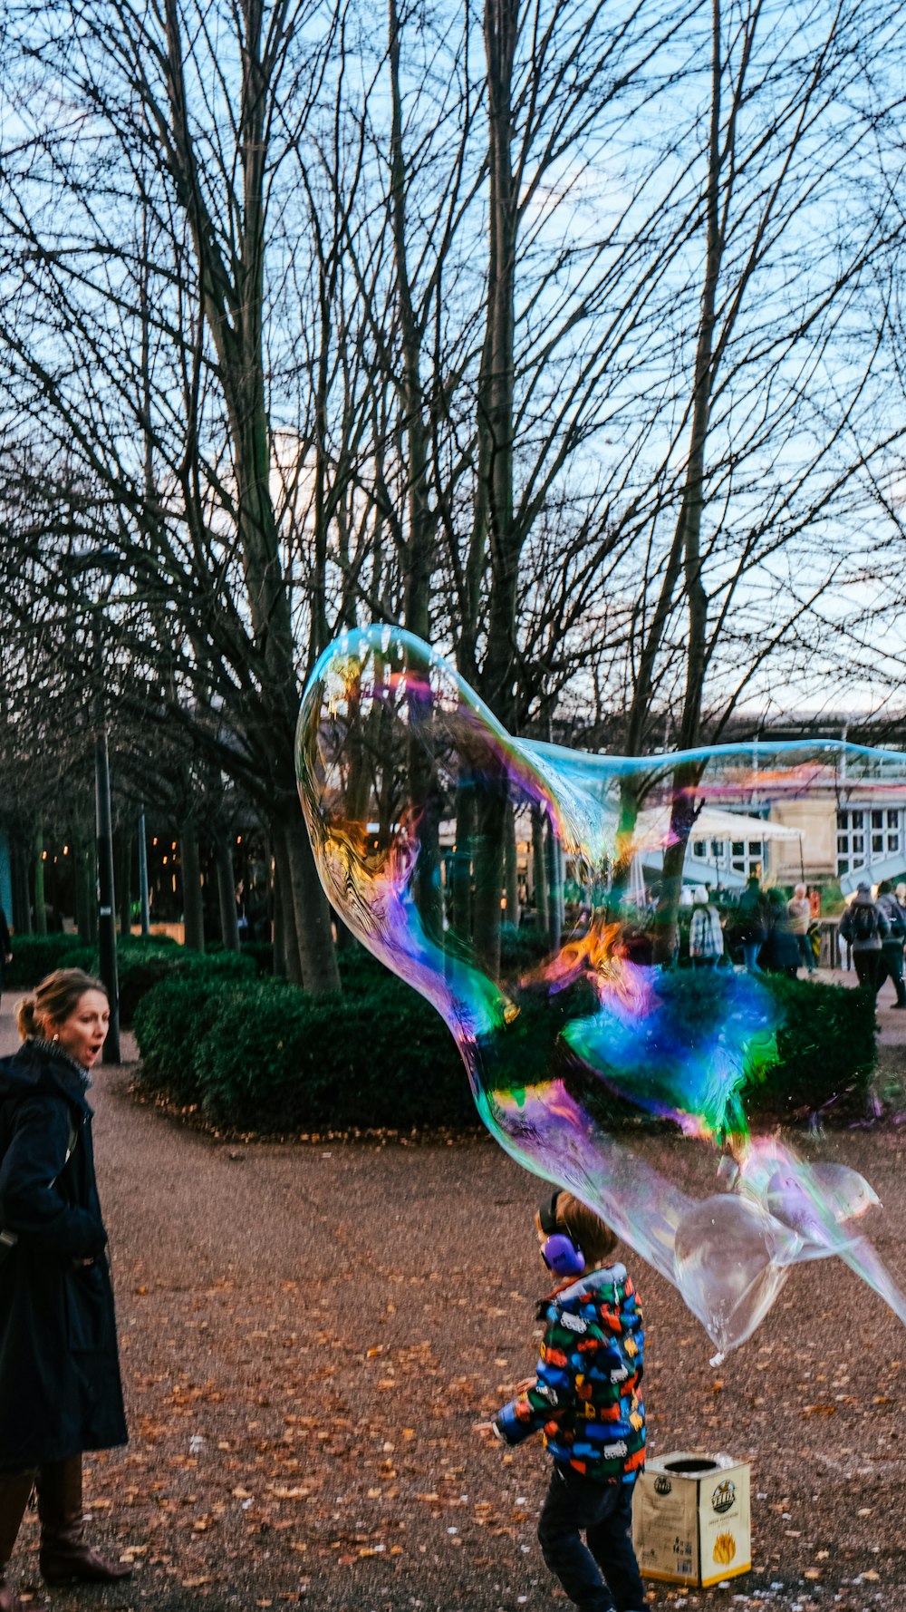
<svg viewBox="0 0 906 1612"><path fill-rule="evenodd" d="M108 1019L103 985L60 969L19 1003L23 1046L0 1061L0 1612L24 1612L5 1570L32 1486L48 1585L131 1572L82 1525L82 1451L127 1438L85 1101Z"/></svg>

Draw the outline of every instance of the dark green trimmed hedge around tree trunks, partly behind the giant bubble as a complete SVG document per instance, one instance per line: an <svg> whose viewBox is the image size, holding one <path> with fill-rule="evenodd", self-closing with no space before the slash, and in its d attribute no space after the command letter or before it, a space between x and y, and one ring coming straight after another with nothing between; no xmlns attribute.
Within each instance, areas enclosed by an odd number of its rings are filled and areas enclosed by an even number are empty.
<svg viewBox="0 0 906 1612"><path fill-rule="evenodd" d="M340 969L345 995L314 999L282 980L227 985L200 969L171 974L135 1014L142 1082L221 1128L474 1125L466 1070L435 1009L371 958L342 961ZM666 978L692 1035L696 1020L711 1014L713 1022L713 977L682 970ZM779 1062L743 1091L750 1120L814 1112L842 1093L862 1101L875 1059L871 998L779 975L761 983L783 1022ZM543 1078L563 1020L593 1008L569 998L572 991L527 999L500 1041L488 1043L487 1053L500 1057L501 1085ZM601 1124L638 1124L640 1111L601 1080L567 1078Z"/></svg>

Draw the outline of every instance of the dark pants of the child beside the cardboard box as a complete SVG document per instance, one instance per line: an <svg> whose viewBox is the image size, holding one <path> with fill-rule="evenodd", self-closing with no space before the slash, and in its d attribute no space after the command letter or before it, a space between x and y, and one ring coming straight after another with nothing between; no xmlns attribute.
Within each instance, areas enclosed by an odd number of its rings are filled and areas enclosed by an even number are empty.
<svg viewBox="0 0 906 1612"><path fill-rule="evenodd" d="M614 1607L616 1612L635 1612L645 1606L632 1549L634 1488L634 1483L595 1483L566 1467L553 1469L538 1541L551 1573L582 1612L613 1612Z"/></svg>

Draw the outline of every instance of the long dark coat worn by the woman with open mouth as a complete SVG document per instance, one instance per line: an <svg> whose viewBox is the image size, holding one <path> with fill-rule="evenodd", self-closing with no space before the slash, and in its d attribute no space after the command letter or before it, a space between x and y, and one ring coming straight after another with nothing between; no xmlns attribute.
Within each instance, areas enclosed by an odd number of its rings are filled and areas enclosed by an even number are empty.
<svg viewBox="0 0 906 1612"><path fill-rule="evenodd" d="M0 1232L16 1238L0 1264L6 1472L127 1438L85 1086L42 1041L0 1059Z"/></svg>

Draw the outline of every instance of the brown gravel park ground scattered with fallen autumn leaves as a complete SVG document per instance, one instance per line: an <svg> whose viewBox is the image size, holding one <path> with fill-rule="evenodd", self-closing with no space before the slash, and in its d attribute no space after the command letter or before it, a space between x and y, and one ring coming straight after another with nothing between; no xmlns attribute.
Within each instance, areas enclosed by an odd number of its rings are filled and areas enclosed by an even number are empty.
<svg viewBox="0 0 906 1612"><path fill-rule="evenodd" d="M906 1067L900 1017L882 1004L888 1074ZM102 1069L92 1090L131 1443L87 1459L85 1496L92 1536L135 1572L50 1597L29 1517L24 1596L60 1612L566 1607L535 1539L540 1443L503 1452L471 1431L535 1361L537 1182L479 1135L206 1136L132 1077ZM698 1169L684 1143L643 1151ZM821 1156L871 1178L885 1209L866 1230L906 1272L906 1127L829 1132ZM753 1465L751 1573L653 1586L653 1604L906 1612L901 1323L838 1261L811 1264L714 1369L677 1294L629 1261L651 1448Z"/></svg>

